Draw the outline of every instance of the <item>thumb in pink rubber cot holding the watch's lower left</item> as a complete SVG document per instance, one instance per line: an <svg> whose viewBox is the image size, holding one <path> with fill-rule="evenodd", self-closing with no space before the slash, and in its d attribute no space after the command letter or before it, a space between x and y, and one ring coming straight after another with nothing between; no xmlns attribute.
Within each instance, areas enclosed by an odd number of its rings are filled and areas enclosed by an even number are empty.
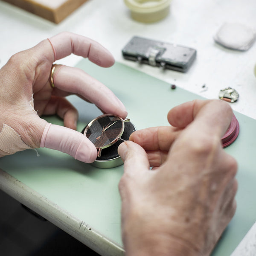
<svg viewBox="0 0 256 256"><path fill-rule="evenodd" d="M84 163L96 160L97 149L83 134L60 125L47 123L41 139L41 147L67 153Z"/></svg>

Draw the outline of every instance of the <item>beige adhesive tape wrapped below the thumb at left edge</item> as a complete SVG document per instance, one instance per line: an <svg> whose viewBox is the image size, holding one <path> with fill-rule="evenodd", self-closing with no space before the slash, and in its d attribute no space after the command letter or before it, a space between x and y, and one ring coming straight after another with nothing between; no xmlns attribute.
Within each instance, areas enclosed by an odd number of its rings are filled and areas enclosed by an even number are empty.
<svg viewBox="0 0 256 256"><path fill-rule="evenodd" d="M32 149L26 145L20 135L10 126L3 124L0 132L0 154L10 155L25 149Z"/></svg>

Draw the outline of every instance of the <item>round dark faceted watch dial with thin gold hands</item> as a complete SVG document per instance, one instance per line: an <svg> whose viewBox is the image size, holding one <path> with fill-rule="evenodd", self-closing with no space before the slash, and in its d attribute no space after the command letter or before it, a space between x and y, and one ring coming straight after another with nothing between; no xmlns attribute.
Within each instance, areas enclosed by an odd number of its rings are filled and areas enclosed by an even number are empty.
<svg viewBox="0 0 256 256"><path fill-rule="evenodd" d="M123 133L123 120L118 116L103 115L89 123L86 137L96 146L105 148L116 142Z"/></svg>

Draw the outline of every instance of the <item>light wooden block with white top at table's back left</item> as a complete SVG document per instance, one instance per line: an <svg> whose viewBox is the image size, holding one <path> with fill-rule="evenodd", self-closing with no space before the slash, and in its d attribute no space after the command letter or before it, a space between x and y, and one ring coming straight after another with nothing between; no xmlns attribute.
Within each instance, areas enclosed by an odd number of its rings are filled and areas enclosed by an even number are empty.
<svg viewBox="0 0 256 256"><path fill-rule="evenodd" d="M87 0L4 0L28 12L59 23Z"/></svg>

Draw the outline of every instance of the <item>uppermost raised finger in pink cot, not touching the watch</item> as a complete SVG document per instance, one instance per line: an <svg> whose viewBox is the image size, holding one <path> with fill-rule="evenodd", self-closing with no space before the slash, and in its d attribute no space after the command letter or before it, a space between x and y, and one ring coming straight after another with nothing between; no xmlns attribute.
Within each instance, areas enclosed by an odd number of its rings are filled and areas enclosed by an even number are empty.
<svg viewBox="0 0 256 256"><path fill-rule="evenodd" d="M110 67L114 64L111 53L101 44L70 32L61 32L48 39L52 45L55 61L71 53L88 58L101 67Z"/></svg>

